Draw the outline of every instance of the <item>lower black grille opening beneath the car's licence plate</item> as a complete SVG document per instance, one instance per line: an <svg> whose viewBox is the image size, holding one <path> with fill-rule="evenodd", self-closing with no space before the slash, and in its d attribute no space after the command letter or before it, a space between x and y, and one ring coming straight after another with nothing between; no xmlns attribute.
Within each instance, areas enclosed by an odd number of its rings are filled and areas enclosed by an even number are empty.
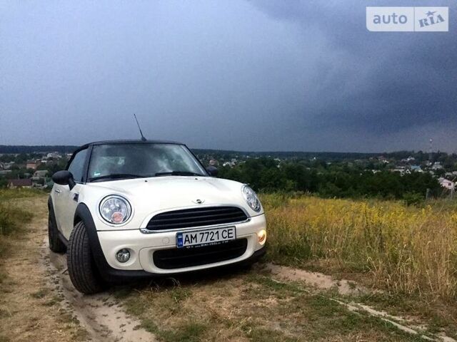
<svg viewBox="0 0 457 342"><path fill-rule="evenodd" d="M154 252L153 259L159 269L181 269L236 259L247 247L247 239L238 239L212 246L161 249Z"/></svg>

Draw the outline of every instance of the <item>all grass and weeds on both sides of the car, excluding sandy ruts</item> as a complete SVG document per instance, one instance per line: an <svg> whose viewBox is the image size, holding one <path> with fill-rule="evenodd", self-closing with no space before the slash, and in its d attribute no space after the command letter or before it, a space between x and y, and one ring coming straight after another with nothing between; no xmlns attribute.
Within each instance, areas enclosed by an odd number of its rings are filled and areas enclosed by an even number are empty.
<svg viewBox="0 0 457 342"><path fill-rule="evenodd" d="M261 199L268 221L264 264L152 279L110 294L159 341L423 341L422 333L457 338L456 203L413 207L278 194ZM0 281L2 342L86 336L71 314L63 320L55 285L36 268L46 210L43 193L0 190L0 253L9 258L8 268L0 266L6 279ZM271 271L271 264L289 266L275 267L292 277ZM298 279L299 269L336 280L324 289ZM338 279L368 290L344 293ZM423 330L407 333L344 304L369 304ZM49 311L49 305L55 308ZM54 335L39 338L49 326Z"/></svg>

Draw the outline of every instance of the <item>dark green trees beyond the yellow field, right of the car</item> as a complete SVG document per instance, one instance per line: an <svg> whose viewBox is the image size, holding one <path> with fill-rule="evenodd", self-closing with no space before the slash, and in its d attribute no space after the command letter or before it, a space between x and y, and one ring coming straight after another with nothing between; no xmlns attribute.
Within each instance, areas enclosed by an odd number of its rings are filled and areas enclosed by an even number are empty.
<svg viewBox="0 0 457 342"><path fill-rule="evenodd" d="M312 192L322 197L379 197L417 202L441 186L428 172L400 175L390 170L361 170L351 163L281 162L259 158L236 167L220 167L219 177L244 182L256 191ZM427 190L428 189L428 190Z"/></svg>

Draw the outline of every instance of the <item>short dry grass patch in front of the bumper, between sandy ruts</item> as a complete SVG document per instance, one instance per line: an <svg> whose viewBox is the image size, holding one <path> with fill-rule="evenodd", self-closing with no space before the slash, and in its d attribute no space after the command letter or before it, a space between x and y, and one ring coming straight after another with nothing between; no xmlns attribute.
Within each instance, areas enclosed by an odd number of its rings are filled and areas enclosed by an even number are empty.
<svg viewBox="0 0 457 342"><path fill-rule="evenodd" d="M114 293L159 341L423 341L263 271L180 277Z"/></svg>

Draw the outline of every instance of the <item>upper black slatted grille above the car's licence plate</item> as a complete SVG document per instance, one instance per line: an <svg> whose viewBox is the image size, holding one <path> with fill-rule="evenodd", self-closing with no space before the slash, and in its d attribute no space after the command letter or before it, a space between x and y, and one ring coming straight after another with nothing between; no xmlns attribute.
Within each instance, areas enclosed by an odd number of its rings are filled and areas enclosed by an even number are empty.
<svg viewBox="0 0 457 342"><path fill-rule="evenodd" d="M146 229L164 230L190 227L212 226L246 221L248 217L238 207L201 207L174 210L156 214L148 222Z"/></svg>

